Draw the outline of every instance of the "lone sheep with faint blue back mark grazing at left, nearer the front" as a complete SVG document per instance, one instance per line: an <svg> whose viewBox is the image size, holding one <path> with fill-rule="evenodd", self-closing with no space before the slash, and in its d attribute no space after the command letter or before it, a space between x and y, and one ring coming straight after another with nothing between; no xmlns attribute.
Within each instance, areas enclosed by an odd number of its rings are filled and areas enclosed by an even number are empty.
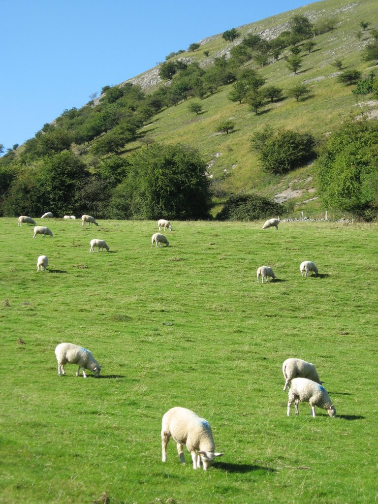
<svg viewBox="0 0 378 504"><path fill-rule="evenodd" d="M101 367L93 357L92 352L74 343L60 343L55 348L56 360L58 361L58 376L66 374L65 364L78 364L76 376L79 376L80 369L83 369L84 378L87 377L85 369L93 371L94 376L98 377Z"/></svg>

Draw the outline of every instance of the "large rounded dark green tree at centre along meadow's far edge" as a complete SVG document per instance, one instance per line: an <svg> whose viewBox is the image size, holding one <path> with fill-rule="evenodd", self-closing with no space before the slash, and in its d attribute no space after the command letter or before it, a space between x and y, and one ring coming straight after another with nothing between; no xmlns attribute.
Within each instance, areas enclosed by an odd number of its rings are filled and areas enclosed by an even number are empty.
<svg viewBox="0 0 378 504"><path fill-rule="evenodd" d="M142 147L129 161L129 174L115 192L113 213L123 211L127 215L122 218L136 219L208 218L210 182L206 162L196 149L155 143Z"/></svg>

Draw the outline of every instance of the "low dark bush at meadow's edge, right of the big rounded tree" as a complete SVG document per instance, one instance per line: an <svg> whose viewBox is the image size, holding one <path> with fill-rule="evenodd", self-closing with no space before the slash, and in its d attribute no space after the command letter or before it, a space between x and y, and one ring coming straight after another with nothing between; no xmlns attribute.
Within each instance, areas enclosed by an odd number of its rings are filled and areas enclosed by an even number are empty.
<svg viewBox="0 0 378 504"><path fill-rule="evenodd" d="M218 220L250 221L281 215L283 206L258 195L231 196L217 214Z"/></svg>

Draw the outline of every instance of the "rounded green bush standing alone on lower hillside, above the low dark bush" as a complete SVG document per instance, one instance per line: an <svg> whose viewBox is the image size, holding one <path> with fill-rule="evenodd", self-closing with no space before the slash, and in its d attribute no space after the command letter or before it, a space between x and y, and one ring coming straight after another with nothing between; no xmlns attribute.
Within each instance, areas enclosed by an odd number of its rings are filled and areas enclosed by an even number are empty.
<svg viewBox="0 0 378 504"><path fill-rule="evenodd" d="M314 156L315 140L308 133L274 131L271 127L254 133L251 147L259 152L263 168L270 173L285 173Z"/></svg>

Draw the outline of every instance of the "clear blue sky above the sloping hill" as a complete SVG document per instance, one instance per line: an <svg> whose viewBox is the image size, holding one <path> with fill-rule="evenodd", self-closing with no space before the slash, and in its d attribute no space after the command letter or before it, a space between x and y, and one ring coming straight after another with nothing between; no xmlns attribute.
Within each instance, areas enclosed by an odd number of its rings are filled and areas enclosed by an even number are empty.
<svg viewBox="0 0 378 504"><path fill-rule="evenodd" d="M305 0L14 0L0 29L0 143L33 137L66 108L171 51L308 4Z"/></svg>

